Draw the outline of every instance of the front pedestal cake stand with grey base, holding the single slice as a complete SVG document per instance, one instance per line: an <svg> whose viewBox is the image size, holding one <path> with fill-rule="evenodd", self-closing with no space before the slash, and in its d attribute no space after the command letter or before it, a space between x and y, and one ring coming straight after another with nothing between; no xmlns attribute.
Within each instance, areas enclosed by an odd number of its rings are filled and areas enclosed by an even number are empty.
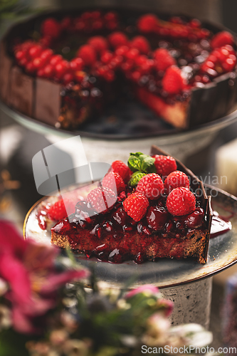
<svg viewBox="0 0 237 356"><path fill-rule="evenodd" d="M73 188L73 190L75 187ZM68 189L65 190L68 192ZM213 209L231 221L232 229L214 239L209 246L209 258L205 265L191 259L160 259L156 262L120 264L100 262L95 258L87 259L75 254L82 266L93 267L96 275L111 288L123 288L130 278L135 280L131 288L152 283L162 288L165 298L174 301L172 323L199 323L209 326L211 307L212 276L237 262L237 198L232 195L206 186L207 194L212 195ZM51 244L50 226L43 231L38 226L36 212L42 202L53 199L44 197L38 201L26 216L23 234L41 244Z"/></svg>

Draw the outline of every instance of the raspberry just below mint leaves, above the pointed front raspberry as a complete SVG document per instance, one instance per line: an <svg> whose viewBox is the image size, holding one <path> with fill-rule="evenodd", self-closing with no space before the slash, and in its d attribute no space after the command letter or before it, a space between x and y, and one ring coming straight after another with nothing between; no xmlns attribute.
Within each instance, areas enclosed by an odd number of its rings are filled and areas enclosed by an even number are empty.
<svg viewBox="0 0 237 356"><path fill-rule="evenodd" d="M158 199L164 190L164 184L159 174L146 174L137 184L136 191L144 194L147 198Z"/></svg>

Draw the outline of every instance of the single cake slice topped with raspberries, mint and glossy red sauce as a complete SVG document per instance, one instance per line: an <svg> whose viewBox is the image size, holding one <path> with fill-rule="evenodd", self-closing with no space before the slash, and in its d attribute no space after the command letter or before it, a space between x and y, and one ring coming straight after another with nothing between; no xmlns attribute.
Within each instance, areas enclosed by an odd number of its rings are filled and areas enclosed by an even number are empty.
<svg viewBox="0 0 237 356"><path fill-rule="evenodd" d="M131 154L128 166L113 162L75 214L53 226L52 244L115 263L187 257L206 263L211 197L184 164L155 146L151 154Z"/></svg>

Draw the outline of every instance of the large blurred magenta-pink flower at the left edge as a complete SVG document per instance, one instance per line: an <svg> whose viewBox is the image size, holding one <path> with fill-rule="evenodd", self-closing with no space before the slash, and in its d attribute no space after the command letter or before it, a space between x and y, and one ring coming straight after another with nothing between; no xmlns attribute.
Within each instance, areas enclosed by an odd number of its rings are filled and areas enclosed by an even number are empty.
<svg viewBox="0 0 237 356"><path fill-rule="evenodd" d="M24 241L8 221L0 221L0 278L9 284L4 295L12 304L14 328L21 333L38 332L39 318L56 307L57 290L88 271L56 271L58 250ZM36 326L37 325L37 326Z"/></svg>

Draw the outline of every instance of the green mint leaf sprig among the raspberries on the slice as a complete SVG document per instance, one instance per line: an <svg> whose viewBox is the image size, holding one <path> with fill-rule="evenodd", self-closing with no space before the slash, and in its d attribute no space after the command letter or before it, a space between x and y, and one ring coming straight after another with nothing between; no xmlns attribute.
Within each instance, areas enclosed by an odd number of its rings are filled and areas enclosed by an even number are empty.
<svg viewBox="0 0 237 356"><path fill-rule="evenodd" d="M157 172L154 165L154 158L149 155L144 155L142 152L130 153L127 165L131 171L134 172L128 182L130 187L136 187L139 180L142 179L145 174Z"/></svg>

